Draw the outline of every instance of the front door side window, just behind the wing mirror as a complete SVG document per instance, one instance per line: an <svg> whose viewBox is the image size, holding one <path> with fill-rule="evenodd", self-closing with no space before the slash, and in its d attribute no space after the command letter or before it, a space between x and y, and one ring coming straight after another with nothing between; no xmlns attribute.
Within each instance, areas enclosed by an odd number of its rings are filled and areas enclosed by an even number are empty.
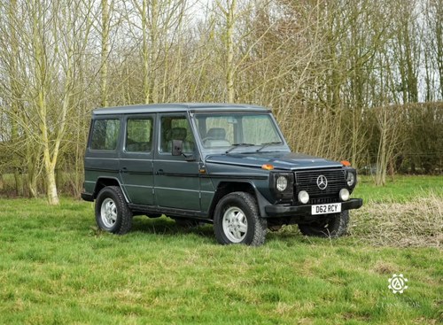
<svg viewBox="0 0 443 325"><path fill-rule="evenodd" d="M194 137L185 116L164 116L161 118L160 152L172 151L172 141L183 141L183 152L194 151Z"/></svg>

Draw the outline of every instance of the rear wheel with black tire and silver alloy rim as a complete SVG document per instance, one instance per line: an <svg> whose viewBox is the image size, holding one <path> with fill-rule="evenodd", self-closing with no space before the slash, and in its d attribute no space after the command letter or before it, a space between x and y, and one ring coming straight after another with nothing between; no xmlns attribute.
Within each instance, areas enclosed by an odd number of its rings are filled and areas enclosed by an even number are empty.
<svg viewBox="0 0 443 325"><path fill-rule="evenodd" d="M132 212L118 186L100 190L96 199L96 221L100 229L117 235L126 234L132 227Z"/></svg>

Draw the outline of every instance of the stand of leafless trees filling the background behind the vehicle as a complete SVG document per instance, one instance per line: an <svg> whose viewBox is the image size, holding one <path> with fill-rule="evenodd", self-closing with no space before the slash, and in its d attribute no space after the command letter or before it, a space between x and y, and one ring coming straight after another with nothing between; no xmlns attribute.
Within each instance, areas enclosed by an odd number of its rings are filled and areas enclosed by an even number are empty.
<svg viewBox="0 0 443 325"><path fill-rule="evenodd" d="M0 2L0 166L57 204L58 170L81 189L93 107L228 101L270 106L293 150L376 164L383 184L399 121L424 128L398 105L443 98L441 1Z"/></svg>

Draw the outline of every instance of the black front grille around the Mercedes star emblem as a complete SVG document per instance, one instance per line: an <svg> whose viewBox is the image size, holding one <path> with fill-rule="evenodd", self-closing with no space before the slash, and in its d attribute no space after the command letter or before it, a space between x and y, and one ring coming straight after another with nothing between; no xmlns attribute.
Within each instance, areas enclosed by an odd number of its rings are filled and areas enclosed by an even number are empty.
<svg viewBox="0 0 443 325"><path fill-rule="evenodd" d="M328 186L324 190L320 190L317 185L317 178L323 175L328 180ZM345 171L339 169L319 169L307 170L295 173L295 197L299 195L300 190L306 190L309 197L328 198L338 197L338 192L346 188ZM335 198L337 200L337 198ZM327 203L327 202L321 202Z"/></svg>

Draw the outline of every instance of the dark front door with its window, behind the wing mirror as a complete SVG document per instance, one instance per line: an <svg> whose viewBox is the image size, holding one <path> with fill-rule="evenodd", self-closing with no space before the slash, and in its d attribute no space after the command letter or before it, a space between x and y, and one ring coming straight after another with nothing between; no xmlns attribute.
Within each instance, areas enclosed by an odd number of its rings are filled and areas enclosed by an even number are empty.
<svg viewBox="0 0 443 325"><path fill-rule="evenodd" d="M187 114L162 113L158 120L159 145L154 160L154 197L159 206L200 211L198 157ZM183 141L183 153L193 156L188 161L172 155L172 141Z"/></svg>

